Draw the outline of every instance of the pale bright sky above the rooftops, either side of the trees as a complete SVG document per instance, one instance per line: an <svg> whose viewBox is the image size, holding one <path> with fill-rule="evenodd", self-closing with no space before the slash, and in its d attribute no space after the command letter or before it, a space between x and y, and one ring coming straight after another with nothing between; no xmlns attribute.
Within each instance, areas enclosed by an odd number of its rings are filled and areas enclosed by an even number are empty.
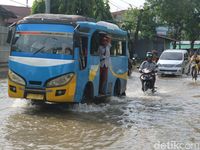
<svg viewBox="0 0 200 150"><path fill-rule="evenodd" d="M28 6L31 7L34 0L0 0L0 5L14 5L14 6ZM142 7L145 0L109 0L111 12L124 10L130 7Z"/></svg>

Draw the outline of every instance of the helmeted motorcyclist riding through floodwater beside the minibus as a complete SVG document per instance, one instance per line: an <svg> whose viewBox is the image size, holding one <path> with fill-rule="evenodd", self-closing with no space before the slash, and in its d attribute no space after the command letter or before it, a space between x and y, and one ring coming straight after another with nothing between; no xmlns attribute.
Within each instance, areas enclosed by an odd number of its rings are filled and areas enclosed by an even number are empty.
<svg viewBox="0 0 200 150"><path fill-rule="evenodd" d="M147 52L146 54L146 60L142 62L142 64L139 67L139 72L142 73L143 69L148 69L152 71L152 91L155 91L155 81L156 81L156 76L155 76L155 72L156 72L156 64L155 62L153 62L153 54L152 52ZM140 78L141 79L141 78ZM142 83L142 91L144 91L144 81L141 79L141 83Z"/></svg>

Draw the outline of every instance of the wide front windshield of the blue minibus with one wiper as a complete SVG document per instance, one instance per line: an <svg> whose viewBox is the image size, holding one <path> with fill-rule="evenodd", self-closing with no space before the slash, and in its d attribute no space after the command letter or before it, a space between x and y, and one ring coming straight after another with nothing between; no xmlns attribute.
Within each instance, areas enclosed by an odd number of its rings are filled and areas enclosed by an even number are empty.
<svg viewBox="0 0 200 150"><path fill-rule="evenodd" d="M12 51L72 55L73 33L17 32Z"/></svg>

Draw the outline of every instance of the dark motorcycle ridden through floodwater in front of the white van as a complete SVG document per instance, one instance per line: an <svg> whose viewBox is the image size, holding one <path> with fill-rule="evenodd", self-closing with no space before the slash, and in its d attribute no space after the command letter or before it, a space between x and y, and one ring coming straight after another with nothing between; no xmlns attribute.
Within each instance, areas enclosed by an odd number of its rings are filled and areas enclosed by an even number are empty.
<svg viewBox="0 0 200 150"><path fill-rule="evenodd" d="M152 91L152 93L156 92L155 87L153 85L153 80L155 78L155 72L149 69L143 69L141 70L141 76L140 79L143 83L143 92L146 92L148 89Z"/></svg>

